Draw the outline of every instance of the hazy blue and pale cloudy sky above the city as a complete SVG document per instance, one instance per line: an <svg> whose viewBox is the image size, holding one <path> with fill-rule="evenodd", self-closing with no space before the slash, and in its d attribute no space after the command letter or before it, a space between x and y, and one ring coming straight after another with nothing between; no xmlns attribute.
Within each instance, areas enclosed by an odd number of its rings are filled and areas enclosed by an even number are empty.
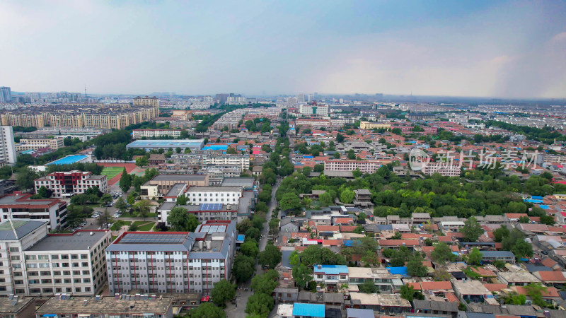
<svg viewBox="0 0 566 318"><path fill-rule="evenodd" d="M18 92L566 97L566 1L0 1Z"/></svg>

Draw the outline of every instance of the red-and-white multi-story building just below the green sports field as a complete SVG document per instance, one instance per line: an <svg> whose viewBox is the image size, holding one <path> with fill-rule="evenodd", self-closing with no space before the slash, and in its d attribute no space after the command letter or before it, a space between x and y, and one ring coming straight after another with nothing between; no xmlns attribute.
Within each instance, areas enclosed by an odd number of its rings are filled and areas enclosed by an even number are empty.
<svg viewBox="0 0 566 318"><path fill-rule="evenodd" d="M88 171L52 172L49 175L35 179L35 192L45 187L53 192L56 198L83 194L87 189L98 187L100 192L108 192L108 180L105 175L93 175Z"/></svg>

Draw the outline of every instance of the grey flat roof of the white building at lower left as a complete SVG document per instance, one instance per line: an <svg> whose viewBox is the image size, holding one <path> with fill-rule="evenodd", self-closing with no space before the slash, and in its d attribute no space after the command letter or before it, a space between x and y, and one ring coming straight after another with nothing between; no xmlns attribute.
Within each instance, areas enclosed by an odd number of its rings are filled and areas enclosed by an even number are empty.
<svg viewBox="0 0 566 318"><path fill-rule="evenodd" d="M84 251L94 247L107 231L78 230L70 235L48 235L26 251Z"/></svg>

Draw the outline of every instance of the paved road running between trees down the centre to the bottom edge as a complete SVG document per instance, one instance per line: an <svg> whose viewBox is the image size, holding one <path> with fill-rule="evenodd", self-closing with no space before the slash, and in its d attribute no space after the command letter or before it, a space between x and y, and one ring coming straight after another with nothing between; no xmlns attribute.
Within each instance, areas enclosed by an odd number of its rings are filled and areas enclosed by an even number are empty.
<svg viewBox="0 0 566 318"><path fill-rule="evenodd" d="M271 216L273 211L275 210L275 207L277 207L277 201L275 201L275 192L277 192L277 188L279 187L280 181L281 179L277 179L277 182L273 186L273 191L271 193L271 201L270 204L267 205L269 207L269 210L267 211L267 216L265 216L265 223L263 224L263 230L261 233L263 236L260 238L260 243L259 243L260 252L265 251L265 246L267 246L267 233L269 232L269 222L271 220ZM261 265L258 263L255 265L255 274L260 274L260 273L262 273L262 269L261 269ZM250 282L240 284L238 285L238 287L241 287L238 288L238 290L236 291L236 302L238 304L238 307L229 303L228 305L226 305L225 311L228 317L245 318L247 314L246 312L244 312L244 310L246 310L246 304L248 303L248 298L251 295L253 295L253 292L250 288ZM248 288L248 291L246 291L244 288ZM274 311L277 312L277 307L273 307L270 317L272 317Z"/></svg>

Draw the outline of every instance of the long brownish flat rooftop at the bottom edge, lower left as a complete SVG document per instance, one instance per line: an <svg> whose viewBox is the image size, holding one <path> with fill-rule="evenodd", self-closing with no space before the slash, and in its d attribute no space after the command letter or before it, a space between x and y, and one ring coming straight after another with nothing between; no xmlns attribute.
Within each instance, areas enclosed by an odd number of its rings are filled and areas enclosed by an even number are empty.
<svg viewBox="0 0 566 318"><path fill-rule="evenodd" d="M52 297L41 305L35 314L136 314L141 316L144 313L164 314L168 312L172 303L173 298L171 297L158 297L155 300L115 300L112 297L96 300L92 297L79 296L59 300L57 297Z"/></svg>

